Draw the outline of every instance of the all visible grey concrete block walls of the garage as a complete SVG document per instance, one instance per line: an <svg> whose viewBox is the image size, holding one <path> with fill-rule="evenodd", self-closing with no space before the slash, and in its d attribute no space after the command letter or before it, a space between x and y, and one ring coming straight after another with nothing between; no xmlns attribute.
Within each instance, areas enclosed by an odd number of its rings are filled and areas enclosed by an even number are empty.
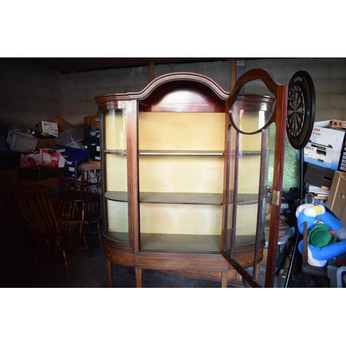
<svg viewBox="0 0 346 346"><path fill-rule="evenodd" d="M346 58L246 60L237 69L262 68L281 84L298 70L311 74L316 89L316 121L346 120ZM170 72L196 72L230 91L230 61L155 66L155 77ZM21 129L62 116L75 126L97 111L95 96L141 91L149 82L149 66L61 74L15 58L0 59L0 119Z"/></svg>

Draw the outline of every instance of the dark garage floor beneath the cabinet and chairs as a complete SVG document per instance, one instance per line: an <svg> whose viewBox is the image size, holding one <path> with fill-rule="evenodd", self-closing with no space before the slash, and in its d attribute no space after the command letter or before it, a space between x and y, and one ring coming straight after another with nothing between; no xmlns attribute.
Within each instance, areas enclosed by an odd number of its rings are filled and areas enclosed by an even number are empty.
<svg viewBox="0 0 346 346"><path fill-rule="evenodd" d="M3 287L18 288L107 288L108 277L106 260L100 248L98 235L89 233L88 242L91 248L91 257L85 251L72 251L68 255L70 277L66 277L61 266L48 266L37 263L35 268L30 266L33 258L33 244L30 236L24 235L24 255L17 260L13 259L11 267L3 276ZM264 284L265 266L261 266L260 284ZM285 277L281 274L275 277L275 288L284 287ZM297 280L298 282L298 280ZM306 284L304 280L301 287L314 287L314 282ZM180 277L153 271L143 272L144 288L219 288L220 282L213 280L201 280L188 277ZM246 288L250 286L244 282ZM293 283L290 282L289 287ZM135 288L136 280L133 268L113 264L113 287ZM231 287L231 286L229 286ZM299 286L298 286L299 287Z"/></svg>

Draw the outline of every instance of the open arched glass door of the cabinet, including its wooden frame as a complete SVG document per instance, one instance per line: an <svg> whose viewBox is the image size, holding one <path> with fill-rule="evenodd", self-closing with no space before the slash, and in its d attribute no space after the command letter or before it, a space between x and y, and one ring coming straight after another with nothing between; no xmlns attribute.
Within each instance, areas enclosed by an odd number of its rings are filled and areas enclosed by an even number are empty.
<svg viewBox="0 0 346 346"><path fill-rule="evenodd" d="M273 247L278 231L286 118L284 89L278 104L276 84L270 80L269 90L256 73L249 71L248 80L236 84L227 104L223 246L224 257L252 286L260 286L257 277L264 246Z"/></svg>

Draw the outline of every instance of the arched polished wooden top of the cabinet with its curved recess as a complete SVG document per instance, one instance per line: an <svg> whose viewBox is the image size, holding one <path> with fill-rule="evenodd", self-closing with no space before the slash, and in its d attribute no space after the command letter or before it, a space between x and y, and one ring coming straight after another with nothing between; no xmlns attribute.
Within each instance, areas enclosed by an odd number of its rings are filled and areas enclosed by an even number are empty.
<svg viewBox="0 0 346 346"><path fill-rule="evenodd" d="M169 73L137 93L113 93L95 98L99 110L111 109L120 100L138 100L140 111L224 112L230 93L212 79L197 73Z"/></svg>

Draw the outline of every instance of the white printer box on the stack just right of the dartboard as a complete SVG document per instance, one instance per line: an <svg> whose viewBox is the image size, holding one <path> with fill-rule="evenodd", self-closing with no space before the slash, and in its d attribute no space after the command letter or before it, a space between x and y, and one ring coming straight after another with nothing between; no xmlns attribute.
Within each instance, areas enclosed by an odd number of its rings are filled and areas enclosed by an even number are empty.
<svg viewBox="0 0 346 346"><path fill-rule="evenodd" d="M330 122L331 120L325 120L313 124L309 143L304 147L304 161L331 168L331 170L346 171L346 131L327 128ZM298 158L300 158L300 151L298 151ZM343 163L342 160L344 160Z"/></svg>

